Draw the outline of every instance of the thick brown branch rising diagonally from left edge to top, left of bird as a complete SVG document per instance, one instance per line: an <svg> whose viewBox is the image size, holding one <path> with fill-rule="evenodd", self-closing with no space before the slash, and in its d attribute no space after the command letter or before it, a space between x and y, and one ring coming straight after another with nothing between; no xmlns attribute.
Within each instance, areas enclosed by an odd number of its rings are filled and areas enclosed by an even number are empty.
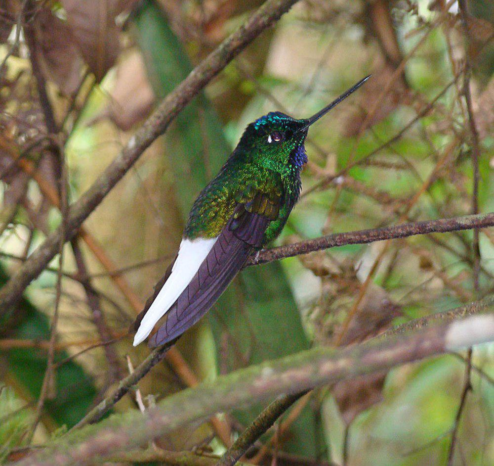
<svg viewBox="0 0 494 466"><path fill-rule="evenodd" d="M177 114L213 79L240 51L262 31L274 24L297 0L267 0L247 21L221 43L168 94L156 111L130 138L120 154L82 196L71 205L67 232L61 229L29 256L0 291L0 315L9 311L29 283L38 277L56 255L60 240L74 236L82 222L99 205L110 190L124 177L151 143L162 135Z"/></svg>

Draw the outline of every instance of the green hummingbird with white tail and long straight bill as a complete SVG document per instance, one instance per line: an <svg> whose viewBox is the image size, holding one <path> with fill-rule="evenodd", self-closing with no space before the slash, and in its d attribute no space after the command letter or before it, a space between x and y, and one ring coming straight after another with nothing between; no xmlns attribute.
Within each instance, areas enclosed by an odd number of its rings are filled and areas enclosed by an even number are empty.
<svg viewBox="0 0 494 466"><path fill-rule="evenodd" d="M206 314L247 259L278 237L300 196L309 127L369 78L310 118L297 120L277 111L247 125L195 200L175 260L134 322L134 346L164 316L148 345L177 339Z"/></svg>

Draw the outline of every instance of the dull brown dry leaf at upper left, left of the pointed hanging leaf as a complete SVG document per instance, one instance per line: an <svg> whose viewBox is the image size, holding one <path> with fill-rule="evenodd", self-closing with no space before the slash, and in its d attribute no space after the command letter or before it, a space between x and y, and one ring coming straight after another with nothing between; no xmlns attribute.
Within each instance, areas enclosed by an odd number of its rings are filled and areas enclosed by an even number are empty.
<svg viewBox="0 0 494 466"><path fill-rule="evenodd" d="M41 72L61 93L72 95L80 84L83 61L69 27L49 8L41 8L34 27Z"/></svg>

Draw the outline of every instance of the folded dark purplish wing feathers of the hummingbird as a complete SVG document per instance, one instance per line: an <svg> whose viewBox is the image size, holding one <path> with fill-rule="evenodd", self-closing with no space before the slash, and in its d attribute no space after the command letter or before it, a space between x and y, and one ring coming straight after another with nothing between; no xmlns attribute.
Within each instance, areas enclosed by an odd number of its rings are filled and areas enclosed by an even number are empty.
<svg viewBox="0 0 494 466"><path fill-rule="evenodd" d="M238 206L197 274L167 311L165 324L149 339L150 346L159 346L178 337L201 319L244 267L252 252L261 247L264 232L272 219L249 212L248 208L248 205Z"/></svg>

